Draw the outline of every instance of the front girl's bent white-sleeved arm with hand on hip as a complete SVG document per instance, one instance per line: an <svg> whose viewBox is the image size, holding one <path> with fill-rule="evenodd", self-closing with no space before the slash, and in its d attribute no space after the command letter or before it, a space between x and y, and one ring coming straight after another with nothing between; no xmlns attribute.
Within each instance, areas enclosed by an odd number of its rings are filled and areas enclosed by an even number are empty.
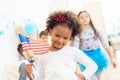
<svg viewBox="0 0 120 80"><path fill-rule="evenodd" d="M86 69L82 73L77 73L77 75L82 80L87 80L97 71L98 69L97 64L91 58L89 58L85 53L83 53L77 48L74 48L73 53L76 61L80 62L86 67Z"/></svg>

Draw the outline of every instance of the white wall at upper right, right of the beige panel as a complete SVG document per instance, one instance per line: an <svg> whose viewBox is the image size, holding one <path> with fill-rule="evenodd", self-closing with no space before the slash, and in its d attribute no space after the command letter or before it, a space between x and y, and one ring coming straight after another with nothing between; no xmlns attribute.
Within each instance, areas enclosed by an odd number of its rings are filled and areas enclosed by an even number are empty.
<svg viewBox="0 0 120 80"><path fill-rule="evenodd" d="M106 30L108 34L120 32L120 1L101 0Z"/></svg>

